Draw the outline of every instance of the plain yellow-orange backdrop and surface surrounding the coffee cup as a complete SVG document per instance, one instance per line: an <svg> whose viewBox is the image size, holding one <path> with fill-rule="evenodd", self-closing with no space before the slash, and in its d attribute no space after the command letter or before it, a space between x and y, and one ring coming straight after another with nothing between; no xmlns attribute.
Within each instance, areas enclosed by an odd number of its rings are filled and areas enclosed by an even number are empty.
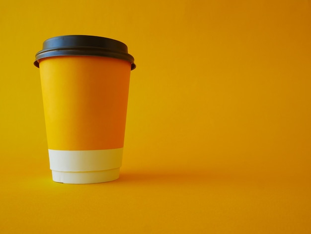
<svg viewBox="0 0 311 234"><path fill-rule="evenodd" d="M310 0L0 1L1 233L311 233ZM52 182L45 39L110 37L131 73L120 179Z"/></svg>

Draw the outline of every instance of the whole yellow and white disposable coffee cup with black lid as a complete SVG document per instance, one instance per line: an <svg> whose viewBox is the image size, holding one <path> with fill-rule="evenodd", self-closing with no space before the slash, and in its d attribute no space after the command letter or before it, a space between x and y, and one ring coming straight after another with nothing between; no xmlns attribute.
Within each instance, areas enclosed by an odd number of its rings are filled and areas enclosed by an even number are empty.
<svg viewBox="0 0 311 234"><path fill-rule="evenodd" d="M52 178L68 184L119 178L134 58L117 40L50 38L36 54Z"/></svg>

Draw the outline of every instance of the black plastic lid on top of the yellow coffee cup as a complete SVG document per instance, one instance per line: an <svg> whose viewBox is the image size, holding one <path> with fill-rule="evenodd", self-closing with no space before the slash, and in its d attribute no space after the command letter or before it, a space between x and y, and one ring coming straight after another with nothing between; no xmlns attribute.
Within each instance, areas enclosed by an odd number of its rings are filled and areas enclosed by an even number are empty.
<svg viewBox="0 0 311 234"><path fill-rule="evenodd" d="M39 67L39 59L64 55L90 55L111 57L129 61L131 70L136 68L134 58L128 53L126 44L99 36L68 35L57 36L43 42L43 49L36 54L34 65Z"/></svg>

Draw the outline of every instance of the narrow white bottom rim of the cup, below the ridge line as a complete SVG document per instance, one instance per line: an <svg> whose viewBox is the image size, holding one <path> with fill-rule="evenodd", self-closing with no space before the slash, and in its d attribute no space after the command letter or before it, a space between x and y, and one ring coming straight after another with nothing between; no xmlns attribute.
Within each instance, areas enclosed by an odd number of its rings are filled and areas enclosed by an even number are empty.
<svg viewBox="0 0 311 234"><path fill-rule="evenodd" d="M53 181L64 184L95 184L119 178L120 168L104 171L64 172L52 170Z"/></svg>

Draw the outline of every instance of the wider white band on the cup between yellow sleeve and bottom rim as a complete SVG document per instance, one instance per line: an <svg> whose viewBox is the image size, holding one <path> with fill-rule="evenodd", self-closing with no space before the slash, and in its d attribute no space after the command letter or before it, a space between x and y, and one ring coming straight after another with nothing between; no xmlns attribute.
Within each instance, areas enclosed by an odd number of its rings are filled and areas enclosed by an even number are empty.
<svg viewBox="0 0 311 234"><path fill-rule="evenodd" d="M119 168L123 148L102 150L49 149L50 168L53 171L86 172Z"/></svg>

